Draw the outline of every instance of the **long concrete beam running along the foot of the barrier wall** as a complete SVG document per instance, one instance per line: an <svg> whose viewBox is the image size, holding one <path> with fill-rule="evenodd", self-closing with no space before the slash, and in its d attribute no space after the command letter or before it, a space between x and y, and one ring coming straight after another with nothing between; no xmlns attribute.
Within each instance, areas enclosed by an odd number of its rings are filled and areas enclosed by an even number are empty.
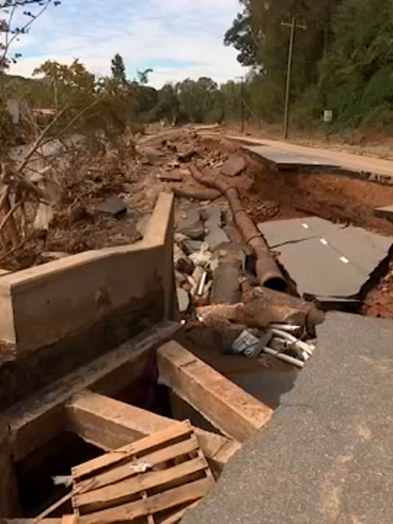
<svg viewBox="0 0 393 524"><path fill-rule="evenodd" d="M110 395L122 391L143 375L152 348L179 329L174 322L157 324L6 410L3 416L10 427L14 460L23 460L64 430L63 405L73 395L86 388Z"/></svg>

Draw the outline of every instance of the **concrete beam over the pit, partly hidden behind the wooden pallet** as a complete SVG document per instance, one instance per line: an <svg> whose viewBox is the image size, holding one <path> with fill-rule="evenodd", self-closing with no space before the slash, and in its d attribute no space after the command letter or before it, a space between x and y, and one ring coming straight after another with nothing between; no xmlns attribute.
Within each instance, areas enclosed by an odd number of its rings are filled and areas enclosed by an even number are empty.
<svg viewBox="0 0 393 524"><path fill-rule="evenodd" d="M144 436L178 424L176 420L130 406L89 390L67 403L67 428L83 440L112 451ZM194 428L201 449L214 471L221 472L241 444L226 436Z"/></svg>

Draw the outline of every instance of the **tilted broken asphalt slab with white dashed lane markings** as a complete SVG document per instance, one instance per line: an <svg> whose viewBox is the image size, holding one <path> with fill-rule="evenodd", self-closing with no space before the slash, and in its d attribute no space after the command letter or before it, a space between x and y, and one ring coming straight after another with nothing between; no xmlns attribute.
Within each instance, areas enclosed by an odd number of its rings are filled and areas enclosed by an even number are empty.
<svg viewBox="0 0 393 524"><path fill-rule="evenodd" d="M361 298L393 244L393 238L318 217L264 222L258 228L301 296L337 298L340 306L343 299Z"/></svg>

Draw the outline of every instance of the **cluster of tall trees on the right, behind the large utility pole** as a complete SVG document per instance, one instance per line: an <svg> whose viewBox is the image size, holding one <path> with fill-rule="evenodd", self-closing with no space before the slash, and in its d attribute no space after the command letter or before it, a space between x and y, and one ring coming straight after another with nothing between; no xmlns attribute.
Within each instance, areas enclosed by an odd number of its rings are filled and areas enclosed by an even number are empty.
<svg viewBox="0 0 393 524"><path fill-rule="evenodd" d="M333 127L393 125L392 0L241 0L242 11L225 35L238 61L251 68L248 104L261 118L283 113L288 23L306 27L294 40L292 121Z"/></svg>

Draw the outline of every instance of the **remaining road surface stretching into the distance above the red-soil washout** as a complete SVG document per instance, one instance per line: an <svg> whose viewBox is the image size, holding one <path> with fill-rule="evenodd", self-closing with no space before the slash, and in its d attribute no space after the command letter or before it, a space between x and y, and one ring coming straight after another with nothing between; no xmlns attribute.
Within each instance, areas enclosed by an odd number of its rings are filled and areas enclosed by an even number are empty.
<svg viewBox="0 0 393 524"><path fill-rule="evenodd" d="M278 140L252 138L248 136L225 135L231 140L238 140L251 146L255 154L277 163L292 164L310 167L325 165L339 167L355 173L374 174L376 180L392 179L393 161L363 155L353 155L342 151L305 147ZM371 178L373 179L373 178ZM385 180L386 181L386 180Z"/></svg>

